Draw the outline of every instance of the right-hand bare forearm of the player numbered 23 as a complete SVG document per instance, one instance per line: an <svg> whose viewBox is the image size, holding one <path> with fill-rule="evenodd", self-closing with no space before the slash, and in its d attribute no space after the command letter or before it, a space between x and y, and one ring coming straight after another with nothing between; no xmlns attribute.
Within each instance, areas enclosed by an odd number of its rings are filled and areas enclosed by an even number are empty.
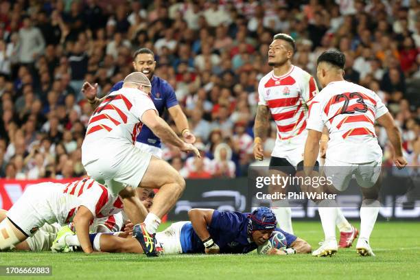
<svg viewBox="0 0 420 280"><path fill-rule="evenodd" d="M402 145L401 145L401 133L399 132L397 125L393 119L393 116L390 115L389 112L385 113L384 115L377 118L378 124L383 126L386 130L386 135L388 135L388 139L393 145L395 156L394 156L394 163L395 165L401 169L407 165L407 161L402 154Z"/></svg>

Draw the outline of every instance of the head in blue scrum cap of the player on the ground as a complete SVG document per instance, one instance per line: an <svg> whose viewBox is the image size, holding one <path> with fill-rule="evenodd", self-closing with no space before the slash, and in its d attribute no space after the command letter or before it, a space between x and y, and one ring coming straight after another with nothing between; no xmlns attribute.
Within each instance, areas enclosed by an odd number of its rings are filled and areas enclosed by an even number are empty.
<svg viewBox="0 0 420 280"><path fill-rule="evenodd" d="M248 218L248 231L250 231L250 235L255 244L264 244L277 226L275 213L270 208L259 207L253 213L250 213Z"/></svg>

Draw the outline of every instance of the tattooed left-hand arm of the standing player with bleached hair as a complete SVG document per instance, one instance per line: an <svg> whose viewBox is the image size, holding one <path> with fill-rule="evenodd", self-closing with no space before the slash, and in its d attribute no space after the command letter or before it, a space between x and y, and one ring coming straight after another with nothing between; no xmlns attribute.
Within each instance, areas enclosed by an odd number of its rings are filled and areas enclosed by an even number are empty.
<svg viewBox="0 0 420 280"><path fill-rule="evenodd" d="M266 105L258 105L254 124L254 157L259 161L264 159L262 139L267 136L270 127L270 110Z"/></svg>

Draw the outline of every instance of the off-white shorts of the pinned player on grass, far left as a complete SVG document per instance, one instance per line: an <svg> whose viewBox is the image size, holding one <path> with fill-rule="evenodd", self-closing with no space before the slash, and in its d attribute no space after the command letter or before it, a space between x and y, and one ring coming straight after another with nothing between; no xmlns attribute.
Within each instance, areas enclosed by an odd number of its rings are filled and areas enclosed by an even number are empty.
<svg viewBox="0 0 420 280"><path fill-rule="evenodd" d="M49 251L60 229L61 226L57 223L44 224L32 237L27 238L26 242L32 252Z"/></svg>

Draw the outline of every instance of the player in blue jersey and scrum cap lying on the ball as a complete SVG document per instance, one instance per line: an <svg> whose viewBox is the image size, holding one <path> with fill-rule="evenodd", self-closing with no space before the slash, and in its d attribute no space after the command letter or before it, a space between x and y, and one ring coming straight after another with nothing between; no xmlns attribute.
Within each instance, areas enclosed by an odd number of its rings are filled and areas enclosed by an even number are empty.
<svg viewBox="0 0 420 280"><path fill-rule="evenodd" d="M156 233L156 241L164 254L181 253L248 253L265 244L273 231L285 236L286 250L272 248L270 255L310 253L311 246L305 240L276 228L275 214L266 207L253 213L220 212L213 209L191 209L190 222L175 222L165 231ZM58 243L63 247L69 243L69 234L63 235ZM109 253L143 253L139 243L128 233L113 235L91 234L95 250Z"/></svg>

